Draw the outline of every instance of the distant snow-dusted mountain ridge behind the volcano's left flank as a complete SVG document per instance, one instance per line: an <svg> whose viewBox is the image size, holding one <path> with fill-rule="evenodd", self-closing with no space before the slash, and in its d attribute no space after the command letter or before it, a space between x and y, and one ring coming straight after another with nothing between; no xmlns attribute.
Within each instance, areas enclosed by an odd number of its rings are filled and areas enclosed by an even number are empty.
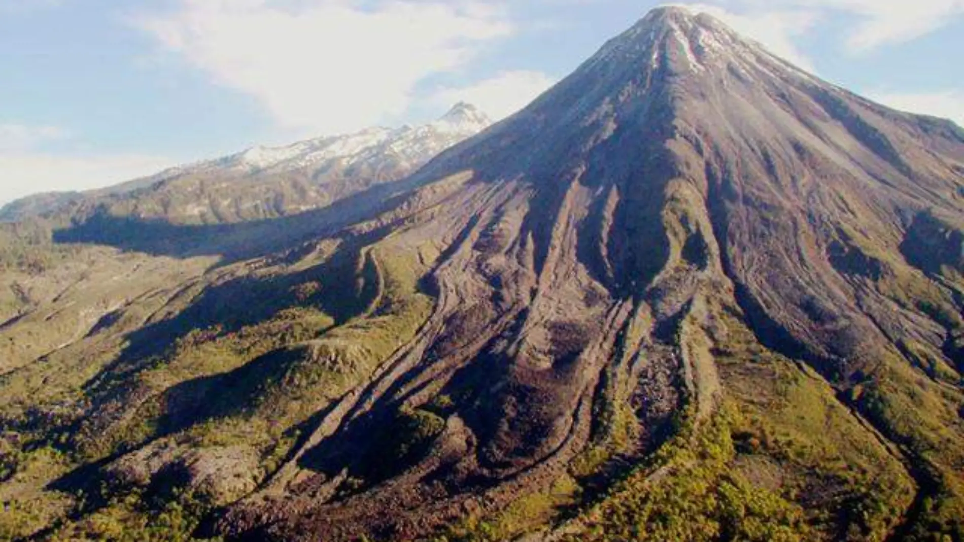
<svg viewBox="0 0 964 542"><path fill-rule="evenodd" d="M30 196L0 208L0 222L83 216L95 208L185 224L285 216L407 176L491 123L476 107L460 102L420 126L373 127L285 147L255 147L108 188Z"/></svg>

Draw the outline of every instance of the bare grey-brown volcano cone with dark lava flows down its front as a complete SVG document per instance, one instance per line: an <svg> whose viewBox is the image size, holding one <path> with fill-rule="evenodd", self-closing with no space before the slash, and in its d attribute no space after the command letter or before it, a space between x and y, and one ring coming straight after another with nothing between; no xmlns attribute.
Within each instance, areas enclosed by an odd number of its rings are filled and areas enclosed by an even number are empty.
<svg viewBox="0 0 964 542"><path fill-rule="evenodd" d="M301 464L323 474L275 478L224 525L270 509L279 540L407 538L545 491L593 447L637 463L681 420L709 431L721 409L790 400L783 379L807 380L831 427L893 441L862 462L914 478L926 461L956 485L962 167L951 122L824 83L708 15L656 10L432 162L406 210L368 228L391 225L366 250L431 253L415 274L433 308L321 423ZM339 470L372 469L399 409L444 420L422 457L326 499ZM893 476L909 510L910 480Z"/></svg>

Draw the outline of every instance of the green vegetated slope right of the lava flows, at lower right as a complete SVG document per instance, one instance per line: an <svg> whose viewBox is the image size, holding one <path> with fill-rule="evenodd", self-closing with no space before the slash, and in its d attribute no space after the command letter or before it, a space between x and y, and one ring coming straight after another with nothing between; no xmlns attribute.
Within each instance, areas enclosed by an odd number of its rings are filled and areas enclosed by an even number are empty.
<svg viewBox="0 0 964 542"><path fill-rule="evenodd" d="M716 332L724 399L710 420L680 417L674 436L595 504L582 501L576 483L522 497L438 540L505 540L559 522L574 542L884 540L915 499L899 452L816 373L764 348L736 318L724 317ZM631 425L619 410L600 420ZM619 440L589 447L571 465L576 478L566 479L588 479ZM924 503L928 514L946 516L937 502Z"/></svg>

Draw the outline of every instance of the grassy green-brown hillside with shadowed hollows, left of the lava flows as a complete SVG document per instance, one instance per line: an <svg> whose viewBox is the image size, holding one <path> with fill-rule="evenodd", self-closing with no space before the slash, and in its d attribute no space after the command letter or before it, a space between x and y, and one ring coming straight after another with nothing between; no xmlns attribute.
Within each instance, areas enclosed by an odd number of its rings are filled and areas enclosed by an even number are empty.
<svg viewBox="0 0 964 542"><path fill-rule="evenodd" d="M46 537L186 540L201 512L213 504L210 496L182 489L176 497L152 499L147 487L105 486L95 495L43 489L58 476L117 451L160 442L200 450L241 445L254 447L261 476L270 474L297 440L301 425L410 340L432 310L432 298L417 289L425 272L418 258L378 246L362 254L367 256L358 265L354 306L346 306L343 290L327 291L324 278L295 285L277 292L285 298L283 308L265 321L231 332L195 330L139 362L125 386L147 398L106 432L81 432L72 445L51 442L49 426L5 433L0 474L13 478L0 484L5 506L0 539L59 525ZM338 305L336 312L355 315L336 322L325 312L329 303ZM216 393L206 395L200 412L174 420L173 391L205 379L220 384ZM80 392L82 382L65 378L63 394Z"/></svg>

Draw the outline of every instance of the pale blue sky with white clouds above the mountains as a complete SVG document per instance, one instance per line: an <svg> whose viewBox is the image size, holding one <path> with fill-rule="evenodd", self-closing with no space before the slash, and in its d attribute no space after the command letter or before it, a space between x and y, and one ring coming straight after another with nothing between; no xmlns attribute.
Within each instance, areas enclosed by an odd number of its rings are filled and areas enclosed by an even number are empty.
<svg viewBox="0 0 964 542"><path fill-rule="evenodd" d="M424 122L462 99L504 116L658 4L0 0L0 203ZM964 0L688 4L832 82L964 124Z"/></svg>

